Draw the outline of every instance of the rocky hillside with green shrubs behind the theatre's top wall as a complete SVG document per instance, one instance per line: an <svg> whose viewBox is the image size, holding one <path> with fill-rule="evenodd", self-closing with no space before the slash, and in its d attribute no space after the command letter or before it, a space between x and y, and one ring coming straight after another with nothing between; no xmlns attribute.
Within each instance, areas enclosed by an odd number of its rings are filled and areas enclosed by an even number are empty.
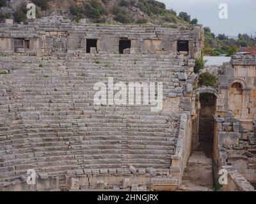
<svg viewBox="0 0 256 204"><path fill-rule="evenodd" d="M13 18L26 23L26 4L31 2L36 4L36 18L63 15L76 22L87 18L92 23L189 25L186 18L155 0L0 0L1 22Z"/></svg>

